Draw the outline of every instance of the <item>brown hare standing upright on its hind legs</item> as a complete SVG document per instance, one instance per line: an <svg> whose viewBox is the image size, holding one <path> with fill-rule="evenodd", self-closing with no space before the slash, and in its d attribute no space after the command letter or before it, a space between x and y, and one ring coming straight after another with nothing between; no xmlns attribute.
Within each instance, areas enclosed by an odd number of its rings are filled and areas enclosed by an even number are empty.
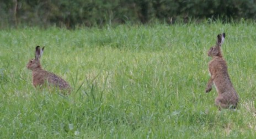
<svg viewBox="0 0 256 139"><path fill-rule="evenodd" d="M211 91L214 84L218 92L215 99L215 105L221 108L236 108L238 104L238 95L231 83L228 75L227 64L221 54L221 45L225 40L225 33L217 35L216 46L208 51L208 56L212 57L209 62L210 80L207 83L205 92Z"/></svg>

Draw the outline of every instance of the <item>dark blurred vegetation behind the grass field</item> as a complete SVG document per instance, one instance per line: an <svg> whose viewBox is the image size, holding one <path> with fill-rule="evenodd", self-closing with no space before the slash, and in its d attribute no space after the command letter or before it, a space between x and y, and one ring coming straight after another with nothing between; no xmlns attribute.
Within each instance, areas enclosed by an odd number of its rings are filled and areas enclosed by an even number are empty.
<svg viewBox="0 0 256 139"><path fill-rule="evenodd" d="M173 24L219 19L255 20L255 0L10 0L0 1L0 27Z"/></svg>

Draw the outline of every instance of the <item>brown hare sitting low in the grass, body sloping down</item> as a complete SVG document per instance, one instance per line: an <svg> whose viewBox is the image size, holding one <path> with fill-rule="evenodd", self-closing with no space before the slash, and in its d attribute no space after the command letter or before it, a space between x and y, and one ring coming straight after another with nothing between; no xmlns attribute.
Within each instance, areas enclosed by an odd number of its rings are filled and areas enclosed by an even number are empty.
<svg viewBox="0 0 256 139"><path fill-rule="evenodd" d="M43 52L44 47L40 49L40 46L36 46L35 59L29 60L29 63L26 65L26 68L32 70L33 85L36 87L38 85L41 86L45 83L48 83L49 85L54 85L55 87L58 87L62 91L67 91L68 93L70 93L71 87L68 82L63 80L61 77L42 69L42 66L40 64L40 57Z"/></svg>

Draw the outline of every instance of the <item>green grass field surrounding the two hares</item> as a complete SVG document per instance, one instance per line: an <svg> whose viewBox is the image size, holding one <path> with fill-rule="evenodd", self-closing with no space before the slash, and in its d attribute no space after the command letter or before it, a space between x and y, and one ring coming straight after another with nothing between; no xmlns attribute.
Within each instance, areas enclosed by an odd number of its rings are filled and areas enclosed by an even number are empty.
<svg viewBox="0 0 256 139"><path fill-rule="evenodd" d="M237 110L218 111L215 88L205 93L221 32ZM37 45L70 96L32 85ZM246 22L1 30L0 138L255 138L255 45Z"/></svg>

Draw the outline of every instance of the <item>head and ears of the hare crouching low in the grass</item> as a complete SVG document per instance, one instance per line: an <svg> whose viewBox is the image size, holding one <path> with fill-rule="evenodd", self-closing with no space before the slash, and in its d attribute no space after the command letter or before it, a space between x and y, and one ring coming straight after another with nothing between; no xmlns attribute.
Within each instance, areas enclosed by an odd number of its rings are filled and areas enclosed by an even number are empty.
<svg viewBox="0 0 256 139"><path fill-rule="evenodd" d="M42 55L42 52L44 52L44 48L45 47L42 47L42 49L40 49L40 46L35 47L35 59L29 60L29 63L26 64L26 68L30 70L41 68L40 57Z"/></svg>

